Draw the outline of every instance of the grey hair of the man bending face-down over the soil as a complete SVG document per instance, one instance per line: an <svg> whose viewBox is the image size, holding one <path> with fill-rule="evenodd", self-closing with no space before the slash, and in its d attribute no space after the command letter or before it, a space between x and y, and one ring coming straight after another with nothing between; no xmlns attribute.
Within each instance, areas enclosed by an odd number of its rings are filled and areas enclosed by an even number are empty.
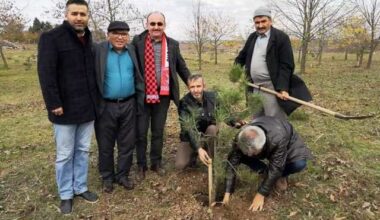
<svg viewBox="0 0 380 220"><path fill-rule="evenodd" d="M265 133L263 129L258 126L245 126L238 134L238 146L245 154L250 150L261 152L265 141Z"/></svg>

